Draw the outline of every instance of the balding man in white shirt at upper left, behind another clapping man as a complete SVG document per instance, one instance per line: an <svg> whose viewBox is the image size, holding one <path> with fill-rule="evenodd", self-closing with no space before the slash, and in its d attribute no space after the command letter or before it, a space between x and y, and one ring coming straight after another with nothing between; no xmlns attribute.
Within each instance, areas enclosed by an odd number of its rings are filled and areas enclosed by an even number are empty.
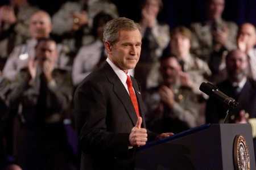
<svg viewBox="0 0 256 170"><path fill-rule="evenodd" d="M3 75L6 78L14 80L20 69L28 65L29 59L33 59L35 57L35 45L37 43L37 39L49 37L51 29L51 18L47 12L37 11L31 16L31 39L27 40L26 44L18 45L14 48L3 69ZM63 45L57 45L57 49L60 57L55 63L56 67L68 69L67 65L69 58L65 55L65 47Z"/></svg>

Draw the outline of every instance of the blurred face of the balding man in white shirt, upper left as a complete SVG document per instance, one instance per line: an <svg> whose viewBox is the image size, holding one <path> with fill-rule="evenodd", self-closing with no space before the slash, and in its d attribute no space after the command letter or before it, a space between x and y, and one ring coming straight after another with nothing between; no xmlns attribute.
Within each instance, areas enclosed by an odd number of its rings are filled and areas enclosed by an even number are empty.
<svg viewBox="0 0 256 170"><path fill-rule="evenodd" d="M30 36L34 39L48 37L51 32L51 20L43 12L38 12L30 19Z"/></svg>

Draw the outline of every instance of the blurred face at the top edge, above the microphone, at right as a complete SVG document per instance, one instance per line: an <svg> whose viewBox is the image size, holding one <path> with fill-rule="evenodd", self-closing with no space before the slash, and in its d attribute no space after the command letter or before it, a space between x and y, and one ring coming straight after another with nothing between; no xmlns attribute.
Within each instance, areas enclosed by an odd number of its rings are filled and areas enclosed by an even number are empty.
<svg viewBox="0 0 256 170"><path fill-rule="evenodd" d="M221 18L224 7L225 7L224 0L210 0L209 8L208 8L209 17L211 19Z"/></svg>

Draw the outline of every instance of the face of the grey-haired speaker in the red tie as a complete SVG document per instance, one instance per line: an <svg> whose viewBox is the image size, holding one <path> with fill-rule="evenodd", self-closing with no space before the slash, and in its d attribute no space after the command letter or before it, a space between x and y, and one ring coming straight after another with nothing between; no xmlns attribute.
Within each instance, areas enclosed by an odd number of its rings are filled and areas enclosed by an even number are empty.
<svg viewBox="0 0 256 170"><path fill-rule="evenodd" d="M142 36L138 29L119 31L119 38L113 45L105 42L109 59L121 70L134 69L141 55Z"/></svg>

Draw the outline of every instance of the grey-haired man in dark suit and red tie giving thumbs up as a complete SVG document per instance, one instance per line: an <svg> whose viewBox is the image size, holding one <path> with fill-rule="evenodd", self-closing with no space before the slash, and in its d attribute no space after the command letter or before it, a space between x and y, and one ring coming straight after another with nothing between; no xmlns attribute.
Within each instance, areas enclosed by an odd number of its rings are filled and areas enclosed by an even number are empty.
<svg viewBox="0 0 256 170"><path fill-rule="evenodd" d="M117 18L104 28L108 58L75 93L81 169L133 169L134 150L157 137L146 130L138 83L129 74L141 53L140 27Z"/></svg>

